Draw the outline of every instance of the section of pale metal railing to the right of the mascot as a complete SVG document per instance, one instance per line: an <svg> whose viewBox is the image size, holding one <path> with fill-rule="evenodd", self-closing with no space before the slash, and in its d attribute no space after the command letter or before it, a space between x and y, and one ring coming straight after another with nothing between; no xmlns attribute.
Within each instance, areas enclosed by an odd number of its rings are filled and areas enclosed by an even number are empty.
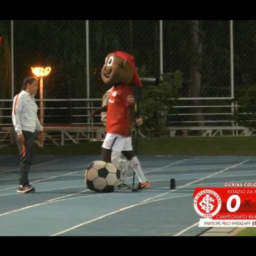
<svg viewBox="0 0 256 256"><path fill-rule="evenodd" d="M168 114L169 136L250 136L253 131L239 124L240 106L232 98L180 98Z"/></svg>

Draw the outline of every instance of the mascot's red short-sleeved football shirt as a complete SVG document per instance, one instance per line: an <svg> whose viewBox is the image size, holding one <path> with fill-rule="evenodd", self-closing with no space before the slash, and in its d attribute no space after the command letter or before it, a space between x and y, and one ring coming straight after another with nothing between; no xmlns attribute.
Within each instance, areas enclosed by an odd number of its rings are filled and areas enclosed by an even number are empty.
<svg viewBox="0 0 256 256"><path fill-rule="evenodd" d="M108 99L106 133L131 136L128 108L133 104L135 104L133 91L127 84L118 84L112 88Z"/></svg>

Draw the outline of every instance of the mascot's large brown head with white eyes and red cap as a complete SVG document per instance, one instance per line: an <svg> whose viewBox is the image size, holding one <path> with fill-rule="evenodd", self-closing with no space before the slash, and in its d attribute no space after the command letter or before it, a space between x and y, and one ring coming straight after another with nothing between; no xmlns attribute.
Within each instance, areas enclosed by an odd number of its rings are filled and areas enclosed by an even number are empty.
<svg viewBox="0 0 256 256"><path fill-rule="evenodd" d="M142 86L135 66L135 58L127 52L112 52L106 56L101 69L101 78L105 84L136 84Z"/></svg>

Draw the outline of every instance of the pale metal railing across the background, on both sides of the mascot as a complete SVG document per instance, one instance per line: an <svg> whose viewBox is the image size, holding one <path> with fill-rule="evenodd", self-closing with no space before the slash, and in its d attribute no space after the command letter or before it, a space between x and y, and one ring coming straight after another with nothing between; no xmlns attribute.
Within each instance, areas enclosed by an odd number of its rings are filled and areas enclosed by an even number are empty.
<svg viewBox="0 0 256 256"><path fill-rule="evenodd" d="M44 146L104 140L105 127L100 116L89 118L91 110L100 106L101 99L44 99ZM239 107L231 98L180 98L167 115L167 133L169 136L252 135L251 129L239 125L234 118L245 114L238 113ZM0 100L2 146L16 144L11 114L12 100ZM144 135L140 132L140 136ZM37 144L43 146L38 141Z"/></svg>

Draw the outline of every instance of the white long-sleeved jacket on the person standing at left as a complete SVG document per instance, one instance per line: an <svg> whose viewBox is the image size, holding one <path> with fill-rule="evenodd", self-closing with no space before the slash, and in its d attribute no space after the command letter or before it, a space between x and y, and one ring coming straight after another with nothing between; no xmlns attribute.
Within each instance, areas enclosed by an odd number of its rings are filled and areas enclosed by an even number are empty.
<svg viewBox="0 0 256 256"><path fill-rule="evenodd" d="M14 97L12 123L18 135L22 134L22 130L30 131L31 133L35 130L42 131L42 125L37 116L37 109L35 98L31 97L30 93L23 90Z"/></svg>

